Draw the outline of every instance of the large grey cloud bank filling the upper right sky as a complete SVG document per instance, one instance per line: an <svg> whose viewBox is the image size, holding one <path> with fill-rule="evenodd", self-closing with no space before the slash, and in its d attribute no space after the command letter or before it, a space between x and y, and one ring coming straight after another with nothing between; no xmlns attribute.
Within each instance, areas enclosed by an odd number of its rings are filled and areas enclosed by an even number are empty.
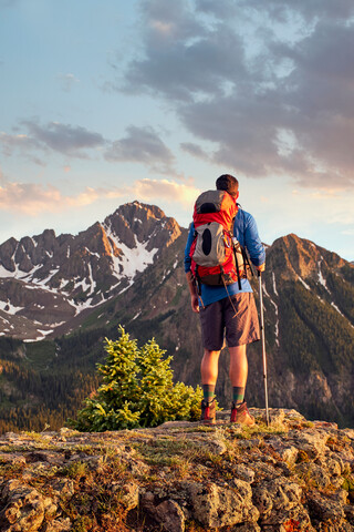
<svg viewBox="0 0 354 532"><path fill-rule="evenodd" d="M142 2L124 90L168 101L210 161L305 187L354 185L350 0ZM192 30L192 31L191 31ZM292 139L284 150L282 132Z"/></svg>

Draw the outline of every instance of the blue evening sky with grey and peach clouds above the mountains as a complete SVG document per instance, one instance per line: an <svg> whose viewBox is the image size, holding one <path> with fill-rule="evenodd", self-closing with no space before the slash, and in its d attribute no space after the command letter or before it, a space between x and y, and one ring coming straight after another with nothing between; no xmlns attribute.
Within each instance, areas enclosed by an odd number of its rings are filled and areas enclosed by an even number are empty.
<svg viewBox="0 0 354 532"><path fill-rule="evenodd" d="M353 0L0 0L0 243L225 173L261 239L354 260Z"/></svg>

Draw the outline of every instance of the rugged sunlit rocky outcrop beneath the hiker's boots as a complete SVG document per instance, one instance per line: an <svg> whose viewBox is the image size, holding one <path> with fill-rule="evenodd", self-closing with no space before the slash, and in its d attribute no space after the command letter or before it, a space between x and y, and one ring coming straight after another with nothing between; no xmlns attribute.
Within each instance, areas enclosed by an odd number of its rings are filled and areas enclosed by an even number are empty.
<svg viewBox="0 0 354 532"><path fill-rule="evenodd" d="M7 433L0 438L2 531L354 530L354 430L294 410L253 409L215 427Z"/></svg>

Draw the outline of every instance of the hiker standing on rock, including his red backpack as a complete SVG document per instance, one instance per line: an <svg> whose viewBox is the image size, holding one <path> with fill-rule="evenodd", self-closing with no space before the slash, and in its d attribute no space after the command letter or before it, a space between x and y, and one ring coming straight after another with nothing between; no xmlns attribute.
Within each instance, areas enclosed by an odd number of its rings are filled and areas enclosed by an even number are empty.
<svg viewBox="0 0 354 532"><path fill-rule="evenodd" d="M264 270L266 250L254 218L237 203L237 178L221 175L216 188L197 198L185 249L190 303L192 311L200 316L204 344L200 419L204 423L214 424L216 421L215 388L225 336L230 352L232 385L230 421L252 426L254 418L244 401L246 346L259 340L260 331L247 270L248 256L259 272Z"/></svg>

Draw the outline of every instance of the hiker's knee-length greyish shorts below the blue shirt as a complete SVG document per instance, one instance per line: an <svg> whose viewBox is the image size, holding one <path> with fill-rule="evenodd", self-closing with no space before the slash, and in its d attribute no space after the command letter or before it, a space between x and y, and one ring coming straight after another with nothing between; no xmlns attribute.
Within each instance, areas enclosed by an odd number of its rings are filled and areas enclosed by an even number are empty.
<svg viewBox="0 0 354 532"><path fill-rule="evenodd" d="M219 351L223 331L229 347L243 346L260 339L258 314L252 293L243 291L199 308L202 345Z"/></svg>

